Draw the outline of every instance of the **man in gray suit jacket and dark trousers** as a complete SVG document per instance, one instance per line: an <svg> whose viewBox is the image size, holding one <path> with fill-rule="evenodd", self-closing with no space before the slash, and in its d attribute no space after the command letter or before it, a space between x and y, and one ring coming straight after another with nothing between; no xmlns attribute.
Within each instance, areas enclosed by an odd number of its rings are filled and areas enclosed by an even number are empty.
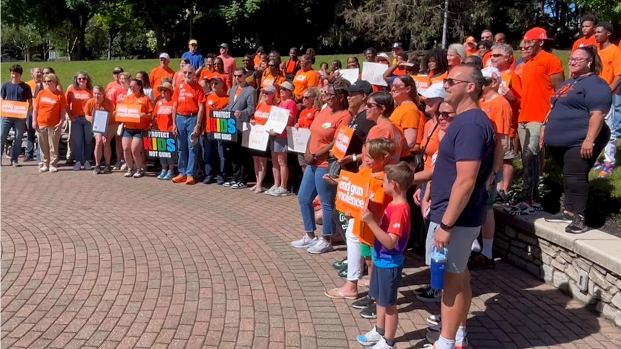
<svg viewBox="0 0 621 349"><path fill-rule="evenodd" d="M255 89L246 83L246 70L242 67L235 68L233 71L233 88L229 96L229 111L237 118L238 124L248 122L250 116L255 114ZM238 130L240 133L240 130ZM232 176L230 181L223 185L232 189L246 188L245 168L250 161L248 149L242 147L242 136L238 135L237 142L218 141L218 147L224 150L225 162L230 163ZM220 168L222 169L222 161Z"/></svg>

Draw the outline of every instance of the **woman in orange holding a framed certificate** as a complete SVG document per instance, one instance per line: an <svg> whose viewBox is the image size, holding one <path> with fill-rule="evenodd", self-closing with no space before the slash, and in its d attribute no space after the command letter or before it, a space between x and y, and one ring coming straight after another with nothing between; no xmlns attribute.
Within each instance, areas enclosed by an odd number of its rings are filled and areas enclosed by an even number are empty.
<svg viewBox="0 0 621 349"><path fill-rule="evenodd" d="M114 111L114 105L112 101L106 98L106 90L101 86L94 86L93 98L89 99L84 106L84 115L86 119L93 120L93 124L97 124L95 120L96 111L104 111L108 113L107 116L107 130L104 133L95 133L95 168L94 174L111 173L112 168L110 165L110 159L112 158L112 147L110 147L110 141L114 138L118 126L116 120L111 115ZM105 115L104 115L105 116ZM101 155L104 155L106 160L106 167L101 168Z"/></svg>

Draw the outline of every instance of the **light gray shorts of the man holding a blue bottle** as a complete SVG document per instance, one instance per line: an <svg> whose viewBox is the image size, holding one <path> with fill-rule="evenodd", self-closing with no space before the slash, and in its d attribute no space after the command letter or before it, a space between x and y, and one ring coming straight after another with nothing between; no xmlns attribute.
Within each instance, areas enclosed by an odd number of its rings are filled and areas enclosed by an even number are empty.
<svg viewBox="0 0 621 349"><path fill-rule="evenodd" d="M440 224L430 222L425 240L425 263L431 265L431 250L435 230ZM472 248L472 242L479 236L481 227L453 227L451 237L448 240L448 258L446 259L446 271L453 274L461 274L468 267L468 258Z"/></svg>

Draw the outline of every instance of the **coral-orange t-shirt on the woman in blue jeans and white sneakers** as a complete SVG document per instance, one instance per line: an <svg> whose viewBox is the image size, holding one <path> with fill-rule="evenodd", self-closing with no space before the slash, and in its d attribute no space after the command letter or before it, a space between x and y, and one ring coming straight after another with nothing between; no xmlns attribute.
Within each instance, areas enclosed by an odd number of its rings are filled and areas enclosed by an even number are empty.
<svg viewBox="0 0 621 349"><path fill-rule="evenodd" d="M338 111L332 114L330 107L325 107L320 111L311 124L311 139L309 139L308 151L311 154L319 152L321 148L332 143L336 137L338 129L343 125L349 125L351 114L348 111ZM327 167L328 161L325 159L328 153L315 160L318 167Z"/></svg>

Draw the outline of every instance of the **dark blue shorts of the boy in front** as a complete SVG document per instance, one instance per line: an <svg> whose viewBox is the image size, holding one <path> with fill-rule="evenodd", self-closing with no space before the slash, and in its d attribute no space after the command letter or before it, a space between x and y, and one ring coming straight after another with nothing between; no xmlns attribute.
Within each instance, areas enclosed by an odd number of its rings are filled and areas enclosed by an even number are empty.
<svg viewBox="0 0 621 349"><path fill-rule="evenodd" d="M401 286L403 266L394 268L378 268L373 265L373 273L369 281L369 297L376 299L380 307L397 305L397 290Z"/></svg>

